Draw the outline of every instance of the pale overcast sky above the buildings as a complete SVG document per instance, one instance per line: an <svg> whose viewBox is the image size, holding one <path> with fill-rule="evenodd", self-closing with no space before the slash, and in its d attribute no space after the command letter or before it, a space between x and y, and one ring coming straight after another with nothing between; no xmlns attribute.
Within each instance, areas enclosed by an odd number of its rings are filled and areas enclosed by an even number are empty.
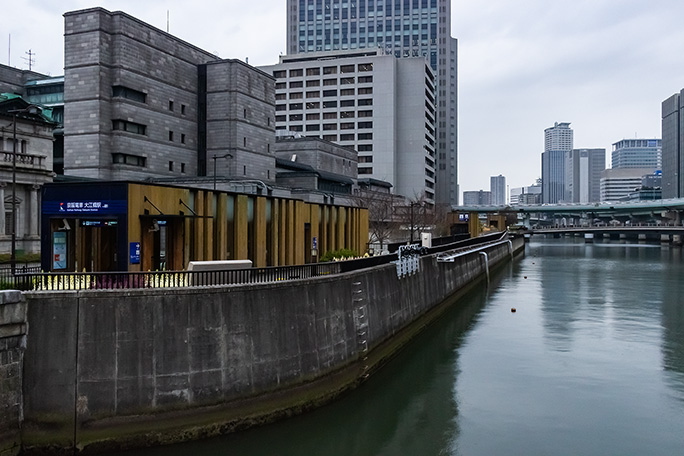
<svg viewBox="0 0 684 456"><path fill-rule="evenodd" d="M201 5L201 6L198 6ZM285 0L13 0L0 62L63 74L66 11L124 11L222 58L276 63ZM544 129L571 122L576 148L660 138L661 102L684 87L682 0L453 0L459 40L459 184L489 190L541 174ZM11 56L9 36L11 35Z"/></svg>

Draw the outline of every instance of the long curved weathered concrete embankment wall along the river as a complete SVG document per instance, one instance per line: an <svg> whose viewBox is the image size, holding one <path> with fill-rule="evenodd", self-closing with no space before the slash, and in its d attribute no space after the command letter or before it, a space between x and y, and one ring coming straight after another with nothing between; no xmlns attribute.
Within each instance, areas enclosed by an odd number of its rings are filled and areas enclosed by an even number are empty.
<svg viewBox="0 0 684 456"><path fill-rule="evenodd" d="M522 247L482 251L493 267ZM170 443L329 401L486 272L480 252L420 262L404 278L385 265L258 286L26 293L24 448Z"/></svg>

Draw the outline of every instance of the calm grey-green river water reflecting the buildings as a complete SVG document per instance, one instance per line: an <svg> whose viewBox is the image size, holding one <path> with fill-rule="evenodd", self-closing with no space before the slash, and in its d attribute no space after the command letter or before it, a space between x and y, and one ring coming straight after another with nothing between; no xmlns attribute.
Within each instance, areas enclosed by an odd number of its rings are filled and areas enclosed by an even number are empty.
<svg viewBox="0 0 684 456"><path fill-rule="evenodd" d="M127 454L684 454L682 250L535 239L341 400Z"/></svg>

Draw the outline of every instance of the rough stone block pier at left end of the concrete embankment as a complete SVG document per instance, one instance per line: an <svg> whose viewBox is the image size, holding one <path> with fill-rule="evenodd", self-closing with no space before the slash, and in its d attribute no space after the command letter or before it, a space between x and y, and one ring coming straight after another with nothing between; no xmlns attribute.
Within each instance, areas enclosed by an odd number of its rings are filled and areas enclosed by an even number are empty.
<svg viewBox="0 0 684 456"><path fill-rule="evenodd" d="M19 453L26 303L18 291L0 291L0 455Z"/></svg>

